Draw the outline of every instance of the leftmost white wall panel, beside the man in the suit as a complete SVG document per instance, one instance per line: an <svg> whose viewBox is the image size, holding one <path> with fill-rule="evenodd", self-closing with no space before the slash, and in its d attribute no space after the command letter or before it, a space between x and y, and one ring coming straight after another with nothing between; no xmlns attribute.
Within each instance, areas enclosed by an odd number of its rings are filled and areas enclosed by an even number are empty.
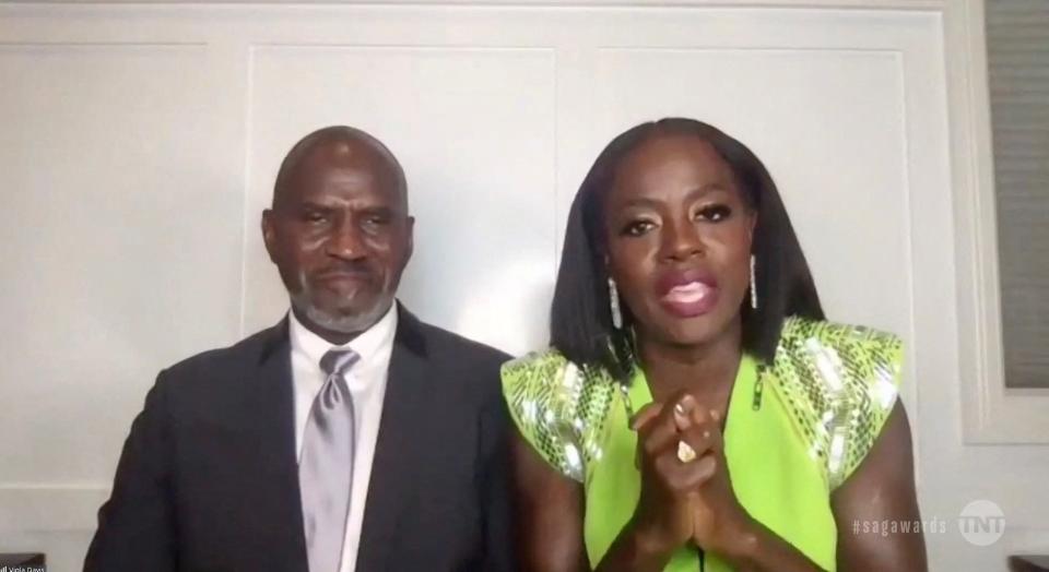
<svg viewBox="0 0 1049 572"><path fill-rule="evenodd" d="M0 482L98 482L158 362L236 335L200 46L0 48ZM203 276L203 278L202 278ZM187 319L197 317L196 319Z"/></svg>

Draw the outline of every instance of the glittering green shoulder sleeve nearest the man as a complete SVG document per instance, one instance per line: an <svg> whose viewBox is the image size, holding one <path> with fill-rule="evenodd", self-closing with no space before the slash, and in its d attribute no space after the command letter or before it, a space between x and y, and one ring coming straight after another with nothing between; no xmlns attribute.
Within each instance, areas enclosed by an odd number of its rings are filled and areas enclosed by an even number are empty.
<svg viewBox="0 0 1049 572"><path fill-rule="evenodd" d="M601 456L602 428L615 385L559 351L529 354L503 366L503 396L521 437L558 473L584 482Z"/></svg>

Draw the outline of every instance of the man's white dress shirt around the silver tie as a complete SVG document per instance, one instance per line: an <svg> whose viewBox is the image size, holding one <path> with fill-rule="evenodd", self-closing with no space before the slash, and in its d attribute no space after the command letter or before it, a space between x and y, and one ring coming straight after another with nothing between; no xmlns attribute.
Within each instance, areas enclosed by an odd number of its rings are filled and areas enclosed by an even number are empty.
<svg viewBox="0 0 1049 572"><path fill-rule="evenodd" d="M342 548L340 572L354 572L357 549L361 543L361 526L364 521L364 504L368 498L368 481L372 477L372 460L382 417L382 398L393 351L397 332L397 305L368 330L349 344L333 346L310 332L288 312L288 335L292 343L292 378L295 393L295 450L303 454L303 433L314 398L320 393L327 376L320 369L320 358L329 349L350 348L361 356L345 374L356 413L356 439L353 457L353 487L350 491L350 512L346 515L346 536Z"/></svg>

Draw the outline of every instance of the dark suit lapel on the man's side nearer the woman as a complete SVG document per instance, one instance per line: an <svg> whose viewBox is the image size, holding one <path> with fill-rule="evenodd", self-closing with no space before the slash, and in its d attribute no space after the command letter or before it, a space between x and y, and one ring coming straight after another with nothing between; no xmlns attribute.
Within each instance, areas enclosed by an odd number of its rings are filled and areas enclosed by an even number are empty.
<svg viewBox="0 0 1049 572"><path fill-rule="evenodd" d="M397 336L390 356L382 419L372 462L368 498L365 504L357 570L386 570L396 545L401 514L415 496L420 480L419 460L424 458L425 439L433 408L428 406L432 384L427 383L425 339L419 321L398 307ZM429 372L431 374L433 372Z"/></svg>

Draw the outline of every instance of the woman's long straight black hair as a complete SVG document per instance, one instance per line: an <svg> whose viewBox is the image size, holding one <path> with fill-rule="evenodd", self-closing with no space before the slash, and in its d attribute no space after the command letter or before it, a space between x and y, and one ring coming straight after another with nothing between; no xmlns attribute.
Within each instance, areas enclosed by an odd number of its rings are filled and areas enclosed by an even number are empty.
<svg viewBox="0 0 1049 572"><path fill-rule="evenodd" d="M568 213L551 308L551 345L576 364L604 367L621 380L629 377L634 367L628 333L632 317L624 306L624 327L612 325L604 200L620 160L640 143L661 135L692 135L714 146L735 175L744 202L757 214L752 253L759 303L757 310L747 302L741 308L743 349L770 364L787 317L824 318L816 286L765 165L743 143L686 118L665 118L629 129L604 147L587 174Z"/></svg>

